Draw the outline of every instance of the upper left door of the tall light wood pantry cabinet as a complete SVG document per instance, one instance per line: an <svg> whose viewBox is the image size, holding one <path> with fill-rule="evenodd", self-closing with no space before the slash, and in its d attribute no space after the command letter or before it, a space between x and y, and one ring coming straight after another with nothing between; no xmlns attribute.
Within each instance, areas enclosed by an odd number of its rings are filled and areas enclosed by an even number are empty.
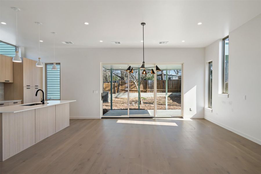
<svg viewBox="0 0 261 174"><path fill-rule="evenodd" d="M32 60L23 58L23 86L33 86L32 84Z"/></svg>

